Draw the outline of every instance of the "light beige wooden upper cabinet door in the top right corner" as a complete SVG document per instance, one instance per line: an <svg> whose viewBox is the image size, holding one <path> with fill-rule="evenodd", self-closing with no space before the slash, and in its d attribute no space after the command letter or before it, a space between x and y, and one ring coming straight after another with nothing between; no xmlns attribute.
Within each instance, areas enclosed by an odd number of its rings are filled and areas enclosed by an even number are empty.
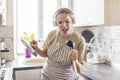
<svg viewBox="0 0 120 80"><path fill-rule="evenodd" d="M120 24L120 0L105 1L105 24Z"/></svg>

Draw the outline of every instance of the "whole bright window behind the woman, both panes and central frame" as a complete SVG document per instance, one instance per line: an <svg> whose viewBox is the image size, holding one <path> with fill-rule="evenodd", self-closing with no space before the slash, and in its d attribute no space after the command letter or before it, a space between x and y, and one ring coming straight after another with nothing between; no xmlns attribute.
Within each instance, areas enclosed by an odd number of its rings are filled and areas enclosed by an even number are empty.
<svg viewBox="0 0 120 80"><path fill-rule="evenodd" d="M65 1L66 2L66 1ZM66 5L57 0L15 0L16 52L24 53L20 41L23 32L34 33L36 39L45 39L54 29L53 15L57 8Z"/></svg>

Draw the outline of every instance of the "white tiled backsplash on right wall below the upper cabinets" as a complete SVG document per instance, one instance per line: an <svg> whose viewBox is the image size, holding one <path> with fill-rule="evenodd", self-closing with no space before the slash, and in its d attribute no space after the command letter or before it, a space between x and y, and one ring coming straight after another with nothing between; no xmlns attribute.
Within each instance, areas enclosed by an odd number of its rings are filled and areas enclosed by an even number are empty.
<svg viewBox="0 0 120 80"><path fill-rule="evenodd" d="M98 44L101 47L98 53L103 54L107 61L120 64L120 25L84 26L76 28L80 34L84 30L92 31L98 38Z"/></svg>

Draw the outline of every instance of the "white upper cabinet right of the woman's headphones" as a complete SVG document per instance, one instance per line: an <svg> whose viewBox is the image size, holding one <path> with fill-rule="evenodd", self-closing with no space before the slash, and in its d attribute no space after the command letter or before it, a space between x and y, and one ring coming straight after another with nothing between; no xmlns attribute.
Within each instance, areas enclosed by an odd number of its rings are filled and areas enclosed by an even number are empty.
<svg viewBox="0 0 120 80"><path fill-rule="evenodd" d="M74 0L75 25L104 24L104 0Z"/></svg>

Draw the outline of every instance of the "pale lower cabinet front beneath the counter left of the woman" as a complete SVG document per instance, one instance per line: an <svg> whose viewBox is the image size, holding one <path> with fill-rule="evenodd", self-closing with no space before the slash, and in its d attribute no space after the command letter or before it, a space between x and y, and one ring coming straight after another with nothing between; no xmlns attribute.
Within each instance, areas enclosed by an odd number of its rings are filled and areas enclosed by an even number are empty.
<svg viewBox="0 0 120 80"><path fill-rule="evenodd" d="M41 70L28 69L15 71L14 80L41 80Z"/></svg>

